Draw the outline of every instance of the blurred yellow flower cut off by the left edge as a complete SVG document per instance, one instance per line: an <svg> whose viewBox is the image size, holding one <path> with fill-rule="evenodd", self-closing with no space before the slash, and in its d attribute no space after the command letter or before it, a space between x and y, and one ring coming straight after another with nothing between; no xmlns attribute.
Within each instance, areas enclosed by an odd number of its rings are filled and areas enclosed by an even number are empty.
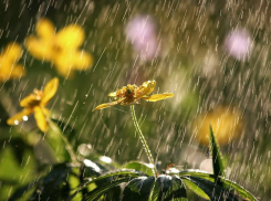
<svg viewBox="0 0 271 201"><path fill-rule="evenodd" d="M22 65L17 64L22 56L22 49L18 43L10 43L0 54L0 82L20 78L25 74Z"/></svg>

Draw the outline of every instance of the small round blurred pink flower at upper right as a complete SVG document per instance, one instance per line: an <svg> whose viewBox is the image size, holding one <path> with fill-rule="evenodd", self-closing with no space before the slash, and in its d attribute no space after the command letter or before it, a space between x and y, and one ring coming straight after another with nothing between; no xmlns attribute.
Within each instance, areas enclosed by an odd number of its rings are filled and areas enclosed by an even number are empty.
<svg viewBox="0 0 271 201"><path fill-rule="evenodd" d="M230 32L226 38L227 52L238 59L247 59L252 49L252 40L250 34L244 30L236 30Z"/></svg>

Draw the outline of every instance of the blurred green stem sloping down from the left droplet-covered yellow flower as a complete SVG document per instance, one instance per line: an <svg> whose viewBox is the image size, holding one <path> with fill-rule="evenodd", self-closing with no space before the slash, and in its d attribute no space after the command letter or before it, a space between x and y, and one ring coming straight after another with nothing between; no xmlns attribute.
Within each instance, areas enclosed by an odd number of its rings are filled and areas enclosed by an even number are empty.
<svg viewBox="0 0 271 201"><path fill-rule="evenodd" d="M65 142L65 149L66 149L66 151L69 152L69 155L70 155L72 161L73 161L74 163L79 163L77 158L76 158L76 154L74 152L73 147L72 147L72 145L70 144L70 141L67 140L66 136L61 131L61 129L59 128L59 126L58 126L55 123L53 123L51 119L49 119L49 125L50 125L50 127L51 127L55 133L58 133L58 134L61 136L61 138L62 138L63 141Z"/></svg>

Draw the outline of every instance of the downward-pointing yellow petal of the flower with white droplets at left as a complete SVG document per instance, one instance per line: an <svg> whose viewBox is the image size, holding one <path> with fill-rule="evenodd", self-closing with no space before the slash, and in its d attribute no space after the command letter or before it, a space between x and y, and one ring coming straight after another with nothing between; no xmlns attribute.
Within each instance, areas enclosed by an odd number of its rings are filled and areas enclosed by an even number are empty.
<svg viewBox="0 0 271 201"><path fill-rule="evenodd" d="M44 107L35 107L34 109L34 118L37 120L38 127L41 129L41 131L46 131L49 124L48 124L48 118L49 116L49 110Z"/></svg>

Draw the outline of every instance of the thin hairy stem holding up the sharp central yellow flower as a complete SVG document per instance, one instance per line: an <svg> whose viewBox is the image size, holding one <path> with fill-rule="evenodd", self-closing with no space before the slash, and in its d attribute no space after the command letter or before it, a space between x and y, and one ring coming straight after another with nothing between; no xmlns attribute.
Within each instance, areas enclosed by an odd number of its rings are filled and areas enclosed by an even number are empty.
<svg viewBox="0 0 271 201"><path fill-rule="evenodd" d="M155 178L157 178L158 173L157 173L157 169L155 167L154 158L153 158L152 152L150 152L150 150L148 148L147 141L146 141L146 139L145 139L142 130L140 130L138 121L136 119L134 105L131 105L131 110L132 110L132 116L133 116L133 120L134 120L134 125L135 125L136 131L139 135L139 139L140 139L142 144L143 144L143 148L144 148L144 150L145 150L145 152L146 152L146 155L148 157L148 161L153 165L153 168L152 168L153 169L153 173L154 173Z"/></svg>

